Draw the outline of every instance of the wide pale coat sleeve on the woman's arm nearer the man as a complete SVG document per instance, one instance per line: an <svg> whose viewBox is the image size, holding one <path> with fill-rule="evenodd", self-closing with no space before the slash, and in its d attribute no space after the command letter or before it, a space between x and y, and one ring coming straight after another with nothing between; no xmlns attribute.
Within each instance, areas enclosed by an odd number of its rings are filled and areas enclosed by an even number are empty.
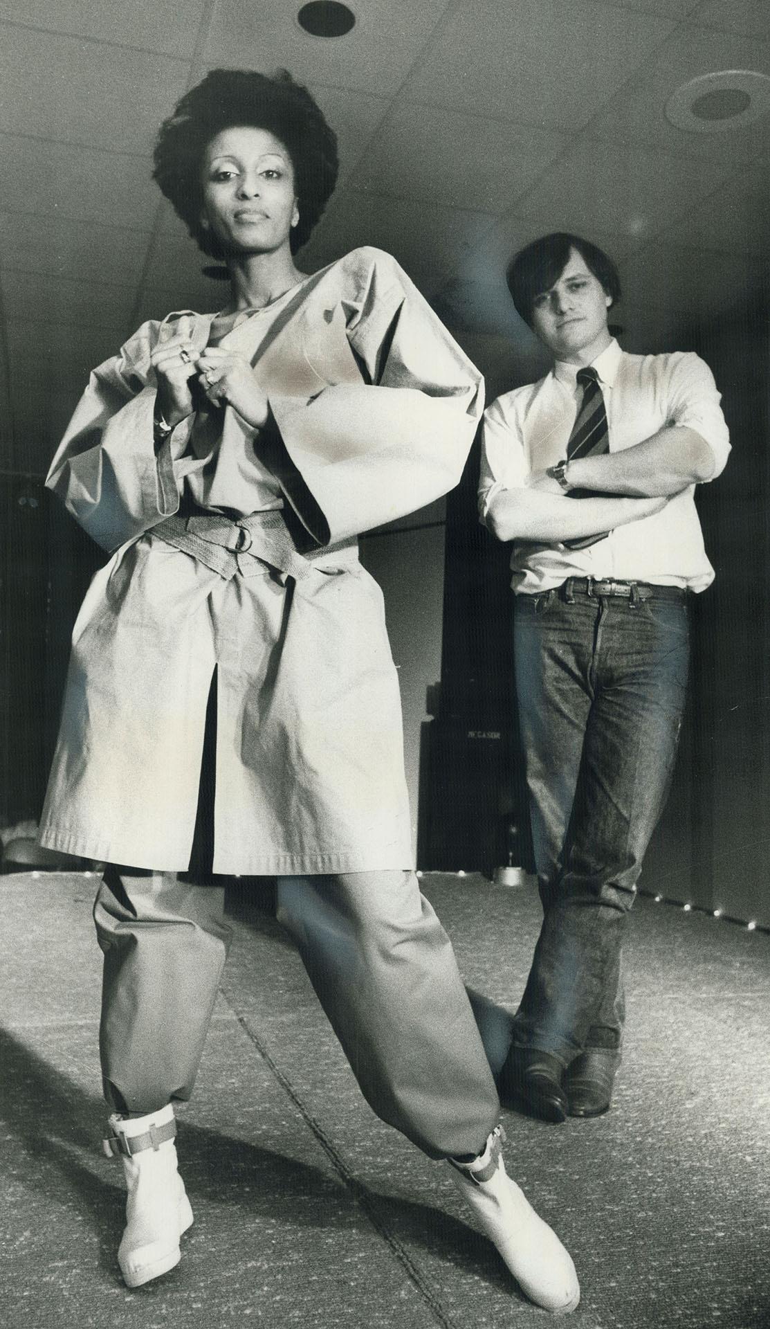
<svg viewBox="0 0 770 1329"><path fill-rule="evenodd" d="M325 363L333 312L321 300L329 335L316 336L307 323L304 348L317 391L268 393L312 496L320 544L370 530L453 489L483 411L479 371L389 254L353 251L340 264L340 283L335 314L344 316L357 372L336 375Z"/></svg>

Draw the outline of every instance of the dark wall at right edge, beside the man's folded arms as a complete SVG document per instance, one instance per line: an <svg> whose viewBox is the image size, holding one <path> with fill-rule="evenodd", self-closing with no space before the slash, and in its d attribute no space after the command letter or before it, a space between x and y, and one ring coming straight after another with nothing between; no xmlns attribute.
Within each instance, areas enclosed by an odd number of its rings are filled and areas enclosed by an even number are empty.
<svg viewBox="0 0 770 1329"><path fill-rule="evenodd" d="M730 427L698 489L714 583L696 598L690 704L643 886L770 925L770 338L765 312L701 330Z"/></svg>

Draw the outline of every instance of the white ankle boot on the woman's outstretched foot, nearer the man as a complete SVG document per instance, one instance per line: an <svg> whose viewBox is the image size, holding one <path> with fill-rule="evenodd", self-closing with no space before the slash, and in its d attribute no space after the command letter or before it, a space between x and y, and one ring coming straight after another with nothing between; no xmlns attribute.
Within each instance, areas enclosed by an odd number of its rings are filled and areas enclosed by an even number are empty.
<svg viewBox="0 0 770 1329"><path fill-rule="evenodd" d="M449 1159L466 1204L497 1245L522 1292L538 1306L564 1314L580 1301L575 1265L556 1233L538 1217L523 1191L506 1175L498 1126L471 1163Z"/></svg>

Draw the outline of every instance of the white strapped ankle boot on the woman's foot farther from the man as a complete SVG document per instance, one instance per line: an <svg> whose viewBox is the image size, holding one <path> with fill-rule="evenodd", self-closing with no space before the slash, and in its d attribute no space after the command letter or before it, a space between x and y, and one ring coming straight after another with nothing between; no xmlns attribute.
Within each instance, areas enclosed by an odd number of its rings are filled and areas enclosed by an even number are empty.
<svg viewBox="0 0 770 1329"><path fill-rule="evenodd" d="M118 1264L129 1288L157 1278L179 1263L179 1237L193 1223L177 1171L177 1123L169 1103L147 1116L110 1116L106 1154L119 1154L126 1174L126 1229Z"/></svg>

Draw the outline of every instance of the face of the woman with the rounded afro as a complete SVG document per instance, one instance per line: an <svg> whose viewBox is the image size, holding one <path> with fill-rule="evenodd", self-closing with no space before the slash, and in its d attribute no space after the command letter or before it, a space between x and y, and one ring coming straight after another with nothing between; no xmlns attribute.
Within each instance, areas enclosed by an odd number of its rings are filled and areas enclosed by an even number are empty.
<svg viewBox="0 0 770 1329"><path fill-rule="evenodd" d="M270 254L299 221L291 157L266 129L235 125L203 157L202 223L227 253Z"/></svg>

